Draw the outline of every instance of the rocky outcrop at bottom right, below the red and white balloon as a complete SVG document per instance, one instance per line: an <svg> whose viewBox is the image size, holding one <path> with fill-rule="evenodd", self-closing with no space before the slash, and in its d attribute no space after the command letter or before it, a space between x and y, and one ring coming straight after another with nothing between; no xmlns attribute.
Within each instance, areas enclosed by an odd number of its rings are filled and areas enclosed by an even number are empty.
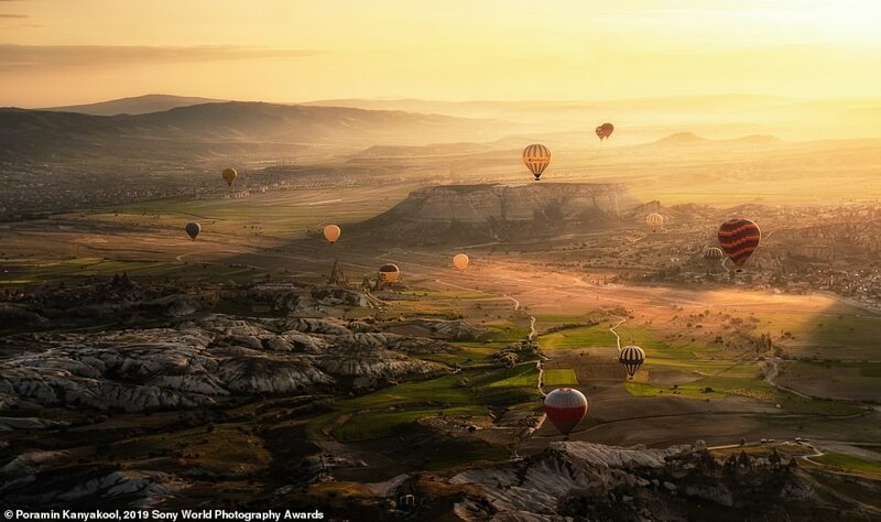
<svg viewBox="0 0 881 522"><path fill-rule="evenodd" d="M554 443L534 457L469 469L449 482L481 491L456 505L464 520L733 520L738 512L826 520L840 511L862 520L859 507L834 508L818 498L813 481L791 466L746 455L730 460L718 463L703 444Z"/></svg>

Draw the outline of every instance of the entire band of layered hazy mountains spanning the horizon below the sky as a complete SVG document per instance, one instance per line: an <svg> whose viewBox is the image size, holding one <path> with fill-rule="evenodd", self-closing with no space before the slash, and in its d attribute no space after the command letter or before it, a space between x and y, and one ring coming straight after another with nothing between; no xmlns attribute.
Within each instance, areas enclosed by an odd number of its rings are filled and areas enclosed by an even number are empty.
<svg viewBox="0 0 881 522"><path fill-rule="evenodd" d="M773 146L780 141L775 135L804 141L881 135L879 110L881 99L874 98L800 101L751 95L286 105L156 94L40 110L0 109L0 161L296 162L304 154L474 154L535 141L555 150ZM616 132L600 144L592 132L605 121L614 122Z"/></svg>

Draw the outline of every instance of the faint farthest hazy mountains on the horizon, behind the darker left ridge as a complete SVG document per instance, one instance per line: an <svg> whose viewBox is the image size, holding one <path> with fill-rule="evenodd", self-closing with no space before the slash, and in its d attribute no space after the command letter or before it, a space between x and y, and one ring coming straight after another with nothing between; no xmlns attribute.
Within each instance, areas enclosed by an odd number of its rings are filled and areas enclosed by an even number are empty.
<svg viewBox="0 0 881 522"><path fill-rule="evenodd" d="M96 104L43 110L91 116L145 115L227 100L152 94ZM616 124L614 144L637 144L687 130L708 139L744 134L776 134L787 140L881 137L881 98L795 99L762 95L660 96L596 100L425 100L328 99L276 107L308 106L373 111L444 115L508 122L498 130L525 140L558 133L591 134L609 121ZM455 141L481 141L474 134ZM445 140L444 140L445 141ZM381 143L372 144L400 144ZM411 143L412 144L412 143Z"/></svg>

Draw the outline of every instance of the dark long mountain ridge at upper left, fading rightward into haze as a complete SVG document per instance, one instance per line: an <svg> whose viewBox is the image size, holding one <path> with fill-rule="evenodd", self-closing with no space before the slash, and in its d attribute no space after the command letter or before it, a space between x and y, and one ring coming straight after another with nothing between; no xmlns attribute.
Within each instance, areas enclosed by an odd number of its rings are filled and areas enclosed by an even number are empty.
<svg viewBox="0 0 881 522"><path fill-rule="evenodd" d="M437 115L240 101L119 116L0 109L0 160L279 159L295 155L297 148L355 152L377 144L489 141L507 127Z"/></svg>

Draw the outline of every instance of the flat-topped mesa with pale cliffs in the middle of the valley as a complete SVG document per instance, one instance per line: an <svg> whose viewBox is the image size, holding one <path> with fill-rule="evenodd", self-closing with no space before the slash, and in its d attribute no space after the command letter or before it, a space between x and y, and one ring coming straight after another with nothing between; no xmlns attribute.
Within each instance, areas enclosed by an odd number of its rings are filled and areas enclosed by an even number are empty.
<svg viewBox="0 0 881 522"><path fill-rule="evenodd" d="M639 206L618 183L442 185L414 191L357 229L409 243L518 240L619 226Z"/></svg>

